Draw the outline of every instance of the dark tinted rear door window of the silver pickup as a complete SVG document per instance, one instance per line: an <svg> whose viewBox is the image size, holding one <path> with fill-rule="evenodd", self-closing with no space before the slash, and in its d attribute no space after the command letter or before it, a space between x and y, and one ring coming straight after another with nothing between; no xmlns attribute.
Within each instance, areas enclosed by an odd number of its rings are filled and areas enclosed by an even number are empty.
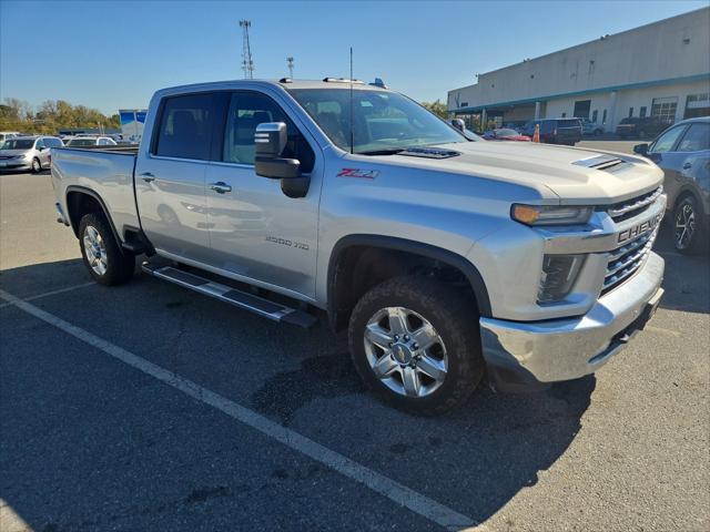
<svg viewBox="0 0 710 532"><path fill-rule="evenodd" d="M207 161L216 122L212 93L165 99L153 153L165 157Z"/></svg>

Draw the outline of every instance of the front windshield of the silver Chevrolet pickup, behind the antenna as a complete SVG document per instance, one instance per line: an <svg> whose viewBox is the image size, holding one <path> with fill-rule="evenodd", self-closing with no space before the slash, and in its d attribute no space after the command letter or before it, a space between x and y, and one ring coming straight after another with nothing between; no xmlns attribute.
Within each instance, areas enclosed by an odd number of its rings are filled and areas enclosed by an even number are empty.
<svg viewBox="0 0 710 532"><path fill-rule="evenodd" d="M454 127L402 94L359 89L352 92L354 153L468 142ZM293 89L291 93L334 144L351 151L349 90Z"/></svg>

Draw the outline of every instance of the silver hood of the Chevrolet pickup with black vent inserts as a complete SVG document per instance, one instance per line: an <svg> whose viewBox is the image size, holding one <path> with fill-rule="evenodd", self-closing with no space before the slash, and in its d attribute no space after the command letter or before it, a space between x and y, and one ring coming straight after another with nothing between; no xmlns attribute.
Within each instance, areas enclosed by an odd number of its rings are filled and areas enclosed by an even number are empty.
<svg viewBox="0 0 710 532"><path fill-rule="evenodd" d="M435 149L453 150L459 155L429 158L398 154L376 158L528 186L542 198L557 198L564 204L616 203L652 191L663 180L663 172L650 161L616 152L488 141Z"/></svg>

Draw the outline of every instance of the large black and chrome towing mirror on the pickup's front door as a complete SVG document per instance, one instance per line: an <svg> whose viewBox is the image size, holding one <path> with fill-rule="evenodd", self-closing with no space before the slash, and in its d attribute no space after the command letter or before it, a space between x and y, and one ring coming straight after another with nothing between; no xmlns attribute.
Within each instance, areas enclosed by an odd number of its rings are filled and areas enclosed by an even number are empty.
<svg viewBox="0 0 710 532"><path fill-rule="evenodd" d="M258 124L254 133L254 171L262 177L282 180L281 190L286 196L303 197L308 192L311 177L301 176L297 158L281 156L287 141L288 132L283 122Z"/></svg>

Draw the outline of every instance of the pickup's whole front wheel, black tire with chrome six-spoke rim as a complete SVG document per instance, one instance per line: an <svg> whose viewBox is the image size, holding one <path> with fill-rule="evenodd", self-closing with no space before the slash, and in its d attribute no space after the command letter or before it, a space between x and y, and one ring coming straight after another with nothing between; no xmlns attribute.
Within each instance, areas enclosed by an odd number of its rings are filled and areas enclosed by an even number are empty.
<svg viewBox="0 0 710 532"><path fill-rule="evenodd" d="M460 405L485 370L473 304L427 278L397 277L365 294L351 316L348 341L365 385L416 413Z"/></svg>

